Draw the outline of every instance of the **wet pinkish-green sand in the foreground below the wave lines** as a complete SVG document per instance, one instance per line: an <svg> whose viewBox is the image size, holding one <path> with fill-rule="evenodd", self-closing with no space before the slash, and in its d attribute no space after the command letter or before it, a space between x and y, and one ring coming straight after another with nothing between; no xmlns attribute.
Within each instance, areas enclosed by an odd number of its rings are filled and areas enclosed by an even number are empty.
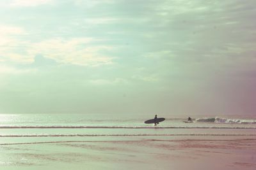
<svg viewBox="0 0 256 170"><path fill-rule="evenodd" d="M0 144L0 169L7 170L234 170L256 169L255 162L255 136L1 138Z"/></svg>

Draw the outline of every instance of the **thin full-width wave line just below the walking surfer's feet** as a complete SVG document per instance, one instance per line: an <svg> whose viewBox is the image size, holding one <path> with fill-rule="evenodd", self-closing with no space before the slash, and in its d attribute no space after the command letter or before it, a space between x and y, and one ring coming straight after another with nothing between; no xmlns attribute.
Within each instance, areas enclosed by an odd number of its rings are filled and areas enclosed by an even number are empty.
<svg viewBox="0 0 256 170"><path fill-rule="evenodd" d="M0 126L0 129L256 129L256 127L6 125Z"/></svg>

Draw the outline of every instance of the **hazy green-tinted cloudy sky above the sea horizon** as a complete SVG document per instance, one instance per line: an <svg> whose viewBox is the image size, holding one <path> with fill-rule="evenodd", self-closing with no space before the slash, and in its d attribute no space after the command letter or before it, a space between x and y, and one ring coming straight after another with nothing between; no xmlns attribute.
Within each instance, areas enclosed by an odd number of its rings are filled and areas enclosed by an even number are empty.
<svg viewBox="0 0 256 170"><path fill-rule="evenodd" d="M255 114L254 0L1 0L0 113Z"/></svg>

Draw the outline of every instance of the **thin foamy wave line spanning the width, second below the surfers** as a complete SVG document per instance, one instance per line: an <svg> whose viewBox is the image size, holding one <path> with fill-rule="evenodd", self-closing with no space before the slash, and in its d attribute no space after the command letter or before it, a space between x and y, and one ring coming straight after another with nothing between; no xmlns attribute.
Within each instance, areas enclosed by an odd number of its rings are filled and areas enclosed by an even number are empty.
<svg viewBox="0 0 256 170"><path fill-rule="evenodd" d="M105 137L105 136L256 136L256 134L2 134L0 138L22 137Z"/></svg>

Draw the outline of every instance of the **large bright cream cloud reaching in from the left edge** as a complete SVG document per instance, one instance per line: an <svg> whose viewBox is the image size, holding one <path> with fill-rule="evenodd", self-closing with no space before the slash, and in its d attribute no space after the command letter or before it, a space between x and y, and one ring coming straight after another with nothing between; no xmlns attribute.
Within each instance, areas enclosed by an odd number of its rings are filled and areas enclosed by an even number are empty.
<svg viewBox="0 0 256 170"><path fill-rule="evenodd" d="M100 45L99 39L93 38L52 38L32 42L20 39L26 31L20 27L0 25L0 58L18 63L33 63L36 55L61 64L80 66L100 66L111 64L113 57L105 53L113 50L112 46ZM93 45L95 41L97 45Z"/></svg>

